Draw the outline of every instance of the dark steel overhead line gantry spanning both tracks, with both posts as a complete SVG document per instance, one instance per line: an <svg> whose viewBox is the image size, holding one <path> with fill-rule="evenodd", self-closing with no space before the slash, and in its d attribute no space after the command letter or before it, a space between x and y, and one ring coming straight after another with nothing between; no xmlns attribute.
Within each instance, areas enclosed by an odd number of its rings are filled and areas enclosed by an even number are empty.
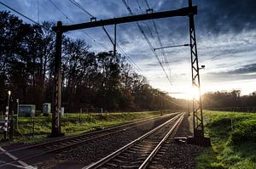
<svg viewBox="0 0 256 169"><path fill-rule="evenodd" d="M129 22L136 22L141 20L153 20L160 18L169 18L177 16L189 16L189 37L190 37L190 53L191 53L191 69L192 69L192 85L200 91L200 76L199 66L195 39L195 23L194 15L197 14L197 7L192 6L192 0L189 0L188 8L179 8L177 10L170 10L164 12L150 13L150 14L138 14L125 16L120 18L113 18L108 20L90 20L90 22L74 24L74 25L62 25L61 21L57 22L57 25L52 28L56 32L55 43L55 99L54 99L54 112L52 114L52 136L61 135L60 125L60 112L61 112L61 41L62 34L66 31L75 31L80 29L99 27L104 25L118 25ZM203 118L202 118L202 106L201 106L201 94L199 99L193 99L193 121L194 121L194 138L190 141L195 144L205 144L208 140L204 138Z"/></svg>

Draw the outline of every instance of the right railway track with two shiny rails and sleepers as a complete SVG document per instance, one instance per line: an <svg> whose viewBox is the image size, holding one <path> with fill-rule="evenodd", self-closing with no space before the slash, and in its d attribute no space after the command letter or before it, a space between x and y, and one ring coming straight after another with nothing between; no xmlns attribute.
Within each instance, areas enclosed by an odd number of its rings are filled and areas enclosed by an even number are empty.
<svg viewBox="0 0 256 169"><path fill-rule="evenodd" d="M176 115L171 120L166 121L159 127L155 127L142 137L135 139L130 144L126 144L121 149L116 150L100 161L92 163L90 166L84 166L83 169L92 168L139 168L148 167L154 159L154 155L159 152L160 148L170 137L172 132L178 127L183 120L182 115Z"/></svg>

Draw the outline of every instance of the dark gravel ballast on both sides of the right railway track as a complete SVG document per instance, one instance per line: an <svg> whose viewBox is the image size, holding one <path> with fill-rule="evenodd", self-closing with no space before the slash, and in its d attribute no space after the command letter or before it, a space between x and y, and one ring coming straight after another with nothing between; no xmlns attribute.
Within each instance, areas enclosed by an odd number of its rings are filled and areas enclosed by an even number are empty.
<svg viewBox="0 0 256 169"><path fill-rule="evenodd" d="M174 115L173 115L174 116ZM171 119L168 116L163 119L157 119L142 126L133 127L123 132L117 132L105 138L90 141L77 148L68 149L56 155L56 158L49 163L54 164L50 168L82 168L93 162L101 160L110 155L115 150L129 144L144 133L158 127L160 124ZM192 116L185 115L179 128L175 132L176 137L192 136L192 124L189 119ZM160 149L160 154L156 155L149 168L195 168L195 157L199 155L204 148L191 144L176 144L170 138L169 142ZM42 161L44 166L44 161ZM38 164L37 166L40 167Z"/></svg>

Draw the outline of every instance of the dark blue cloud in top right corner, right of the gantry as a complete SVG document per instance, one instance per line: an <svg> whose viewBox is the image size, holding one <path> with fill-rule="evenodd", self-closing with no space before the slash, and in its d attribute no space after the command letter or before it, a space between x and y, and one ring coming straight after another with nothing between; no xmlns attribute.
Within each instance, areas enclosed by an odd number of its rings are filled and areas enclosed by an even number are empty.
<svg viewBox="0 0 256 169"><path fill-rule="evenodd" d="M256 29L255 0L196 1L196 24L201 30L214 34Z"/></svg>

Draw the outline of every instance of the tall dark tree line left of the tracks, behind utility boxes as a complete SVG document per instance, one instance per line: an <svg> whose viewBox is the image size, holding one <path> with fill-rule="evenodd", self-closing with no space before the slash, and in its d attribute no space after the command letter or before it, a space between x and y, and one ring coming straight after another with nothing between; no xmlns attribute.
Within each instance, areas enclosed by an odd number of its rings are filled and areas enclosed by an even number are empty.
<svg viewBox="0 0 256 169"><path fill-rule="evenodd" d="M44 22L49 30L54 23ZM51 103L54 87L55 33L29 25L7 11L0 11L0 106L11 103ZM62 104L68 112L82 107L108 111L181 109L184 100L173 99L151 87L121 54L90 52L83 39L63 36Z"/></svg>

